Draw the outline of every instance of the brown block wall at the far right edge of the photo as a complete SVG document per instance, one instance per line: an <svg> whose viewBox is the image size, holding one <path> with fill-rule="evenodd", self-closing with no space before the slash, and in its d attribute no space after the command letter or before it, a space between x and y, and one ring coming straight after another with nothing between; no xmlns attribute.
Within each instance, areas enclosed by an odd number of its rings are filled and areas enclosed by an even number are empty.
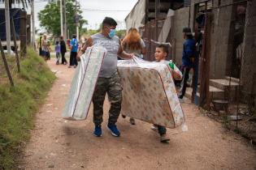
<svg viewBox="0 0 256 170"><path fill-rule="evenodd" d="M245 36L244 36L244 57L241 62L241 85L245 99L249 93L256 94L256 1L248 1ZM256 99L254 97L254 104Z"/></svg>

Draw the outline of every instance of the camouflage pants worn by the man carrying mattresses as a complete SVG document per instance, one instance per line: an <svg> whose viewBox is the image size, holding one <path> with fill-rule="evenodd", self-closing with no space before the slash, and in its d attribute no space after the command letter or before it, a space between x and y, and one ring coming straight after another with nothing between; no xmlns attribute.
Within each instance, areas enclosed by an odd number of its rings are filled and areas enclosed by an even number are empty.
<svg viewBox="0 0 256 170"><path fill-rule="evenodd" d="M93 122L95 125L102 124L103 104L106 93L111 103L108 122L115 124L119 117L122 103L122 87L117 71L112 74L111 78L98 78L93 94Z"/></svg>

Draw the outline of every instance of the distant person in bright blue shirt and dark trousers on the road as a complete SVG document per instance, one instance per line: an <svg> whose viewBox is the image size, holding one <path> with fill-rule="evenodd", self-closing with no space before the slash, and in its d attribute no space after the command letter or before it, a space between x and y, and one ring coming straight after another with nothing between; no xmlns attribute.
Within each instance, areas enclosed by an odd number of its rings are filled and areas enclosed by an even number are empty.
<svg viewBox="0 0 256 170"><path fill-rule="evenodd" d="M70 49L71 49L71 53L70 53L70 60L69 60L68 68L71 68L72 66L74 66L74 68L76 68L76 66L78 65L77 60L76 60L77 50L78 50L78 40L76 40L75 34L72 36L72 40L70 41Z"/></svg>

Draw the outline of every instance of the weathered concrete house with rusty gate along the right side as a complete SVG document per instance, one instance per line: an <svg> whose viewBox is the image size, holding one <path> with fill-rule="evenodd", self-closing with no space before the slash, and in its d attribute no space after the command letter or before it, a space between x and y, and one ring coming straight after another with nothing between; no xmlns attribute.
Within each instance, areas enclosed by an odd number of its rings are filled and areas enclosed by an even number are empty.
<svg viewBox="0 0 256 170"><path fill-rule="evenodd" d="M195 96L208 105L210 100L241 99L256 104L255 9L256 1L251 0L140 0L126 23L127 28L140 30L148 51L146 60L154 60L157 42L167 42L171 44L169 58L177 65L183 50L182 28L192 28L198 44L202 43L198 48L200 94Z"/></svg>

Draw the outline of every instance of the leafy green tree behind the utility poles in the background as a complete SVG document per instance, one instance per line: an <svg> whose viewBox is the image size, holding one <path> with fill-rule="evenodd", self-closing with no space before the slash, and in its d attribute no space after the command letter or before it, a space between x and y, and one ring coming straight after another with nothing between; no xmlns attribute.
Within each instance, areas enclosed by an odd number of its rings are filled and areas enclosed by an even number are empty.
<svg viewBox="0 0 256 170"><path fill-rule="evenodd" d="M38 19L40 21L40 26L46 28L47 32L53 33L54 36L59 36L60 31L60 2L49 2L45 9L38 13ZM77 15L76 15L76 4L72 0L66 0L66 19L67 19L67 29L72 34L76 33L76 19L82 18L82 11L80 11L80 5L77 5ZM76 17L75 17L76 16ZM79 19L80 31L82 31L82 26L87 24L87 20Z"/></svg>

